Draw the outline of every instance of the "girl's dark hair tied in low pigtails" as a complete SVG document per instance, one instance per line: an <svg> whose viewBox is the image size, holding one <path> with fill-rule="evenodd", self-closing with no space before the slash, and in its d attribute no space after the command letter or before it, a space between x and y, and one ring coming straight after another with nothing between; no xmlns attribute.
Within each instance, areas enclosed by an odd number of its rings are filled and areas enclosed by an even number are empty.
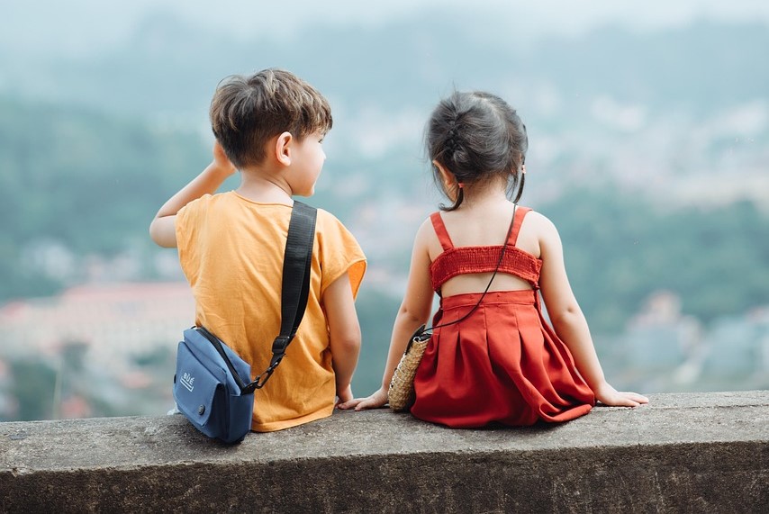
<svg viewBox="0 0 769 514"><path fill-rule="evenodd" d="M430 162L439 162L457 182L473 185L502 176L510 195L518 190L513 202L520 200L529 137L515 109L499 96L455 92L441 100L430 116L425 143ZM440 181L438 168L433 166L433 172ZM460 188L454 204L440 209L454 211L463 198Z"/></svg>

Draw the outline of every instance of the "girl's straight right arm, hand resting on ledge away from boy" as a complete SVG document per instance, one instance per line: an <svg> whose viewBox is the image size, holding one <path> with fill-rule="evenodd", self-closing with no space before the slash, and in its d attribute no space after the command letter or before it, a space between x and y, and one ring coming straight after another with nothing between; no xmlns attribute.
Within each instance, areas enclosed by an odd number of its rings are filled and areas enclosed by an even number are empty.
<svg viewBox="0 0 769 514"><path fill-rule="evenodd" d="M566 275L564 251L558 231L555 225L544 216L534 212L531 214L533 214L532 221L537 223L536 228L540 234L542 271L539 285L542 298L556 334L574 356L577 371L593 390L596 399L602 403L626 407L647 403L648 399L645 396L635 392L618 392L606 382L601 363L595 353L587 320L574 298Z"/></svg>

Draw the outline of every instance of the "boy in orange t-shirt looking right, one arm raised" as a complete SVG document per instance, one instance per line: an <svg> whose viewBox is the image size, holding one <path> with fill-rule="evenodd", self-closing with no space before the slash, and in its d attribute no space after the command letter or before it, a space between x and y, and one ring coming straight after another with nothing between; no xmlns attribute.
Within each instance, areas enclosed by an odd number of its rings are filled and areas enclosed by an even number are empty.
<svg viewBox="0 0 769 514"><path fill-rule="evenodd" d="M280 329L292 196L314 193L330 106L294 74L265 69L223 80L210 117L213 162L160 208L149 233L159 246L178 248L195 296L195 325L222 338L258 374ZM240 187L214 194L237 170ZM336 402L352 400L360 350L354 298L365 271L356 239L319 209L307 309L283 362L256 392L252 430L325 418Z"/></svg>

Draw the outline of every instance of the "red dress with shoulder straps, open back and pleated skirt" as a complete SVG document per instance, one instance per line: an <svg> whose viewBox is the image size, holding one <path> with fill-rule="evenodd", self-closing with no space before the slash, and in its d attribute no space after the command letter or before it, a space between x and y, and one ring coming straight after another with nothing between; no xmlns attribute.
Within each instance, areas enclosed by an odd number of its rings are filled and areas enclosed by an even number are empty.
<svg viewBox="0 0 769 514"><path fill-rule="evenodd" d="M515 247L529 211L516 209L500 272L519 276L533 289L486 293L469 318L433 331L414 378L416 418L456 428L531 425L574 419L593 408L593 391L542 316L542 261ZM493 272L502 246L455 248L439 212L430 218L444 250L430 265L436 292L453 276ZM460 319L481 294L441 298L433 325Z"/></svg>

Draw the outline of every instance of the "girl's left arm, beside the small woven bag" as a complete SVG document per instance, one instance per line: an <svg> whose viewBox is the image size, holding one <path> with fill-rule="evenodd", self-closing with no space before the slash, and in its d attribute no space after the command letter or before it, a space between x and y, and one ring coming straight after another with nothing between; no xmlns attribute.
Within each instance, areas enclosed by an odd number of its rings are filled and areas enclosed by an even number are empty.
<svg viewBox="0 0 769 514"><path fill-rule="evenodd" d="M426 221L417 232L412 250L412 264L409 270L409 281L401 308L395 317L393 336L390 339L390 351L387 354L385 373L382 376L382 387L366 398L356 398L339 405L340 409L364 410L382 407L387 403L387 390L393 379L395 366L401 360L403 352L412 334L430 319L432 310L432 284L430 284L430 254L427 240L432 225Z"/></svg>

